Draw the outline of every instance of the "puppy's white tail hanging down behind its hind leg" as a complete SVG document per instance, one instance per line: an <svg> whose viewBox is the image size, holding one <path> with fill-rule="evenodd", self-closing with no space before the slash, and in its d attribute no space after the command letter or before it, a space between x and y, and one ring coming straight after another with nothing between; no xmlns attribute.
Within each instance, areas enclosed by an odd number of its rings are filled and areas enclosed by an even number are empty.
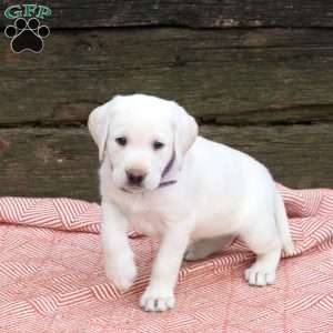
<svg viewBox="0 0 333 333"><path fill-rule="evenodd" d="M282 248L286 254L292 254L294 252L294 245L289 229L284 203L280 193L276 193L275 198L275 221L282 241Z"/></svg>

